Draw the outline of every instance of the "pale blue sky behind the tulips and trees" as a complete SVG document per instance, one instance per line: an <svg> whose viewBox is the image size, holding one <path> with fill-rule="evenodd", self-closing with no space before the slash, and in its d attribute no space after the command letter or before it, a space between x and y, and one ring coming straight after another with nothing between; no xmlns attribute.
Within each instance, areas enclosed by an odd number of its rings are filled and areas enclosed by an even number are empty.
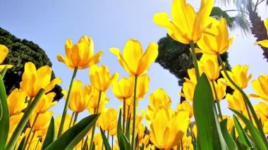
<svg viewBox="0 0 268 150"><path fill-rule="evenodd" d="M14 1L1 0L0 27L8 30L20 39L28 39L44 49L49 56L56 76L63 79L63 89L68 87L72 71L65 64L56 60L56 55L65 56L64 44L71 38L73 43L78 42L82 35L92 37L95 51L103 50L101 65L108 65L111 73L118 72L120 77L126 77L126 72L118 64L116 56L109 52L109 48L123 49L128 39L138 39L145 51L150 42L157 42L166 35L166 30L155 25L152 17L155 13L166 11L170 13L171 0L137 0L137 1L90 1L90 0L59 0L59 1ZM199 1L188 1L198 8ZM261 9L262 18L267 16L266 9ZM229 49L231 65L248 64L253 79L267 74L267 62L262 59L262 50L254 46L255 38L251 35L243 37L240 30L230 33L237 35ZM164 70L160 65L153 64L148 72L150 75L150 91L162 87L171 96L173 108L179 102L177 79ZM76 79L89 84L88 69L79 70ZM253 92L248 85L247 92ZM147 95L148 95L147 94ZM108 106L118 107L121 103L111 94ZM257 100L253 100L257 101ZM53 108L55 115L63 110L60 101ZM140 101L140 108L145 109L148 104L147 96ZM223 107L226 103L222 102ZM224 109L226 110L226 109ZM85 114L85 113L84 113ZM83 116L83 115L80 115Z"/></svg>

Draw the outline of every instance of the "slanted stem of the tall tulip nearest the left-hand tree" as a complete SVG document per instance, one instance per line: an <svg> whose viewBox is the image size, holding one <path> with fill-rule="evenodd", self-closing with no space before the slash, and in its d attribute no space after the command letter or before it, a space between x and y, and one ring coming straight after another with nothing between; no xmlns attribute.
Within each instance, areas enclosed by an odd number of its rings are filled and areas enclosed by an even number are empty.
<svg viewBox="0 0 268 150"><path fill-rule="evenodd" d="M72 87L73 87L73 80L75 79L77 71L78 71L78 68L75 68L73 70L73 77L71 79L70 87L69 87L69 90L68 90L65 106L64 106L64 109L63 109L62 117L61 117L61 124L59 125L59 133L58 133L57 137L61 136L61 133L62 133L62 130L63 130L63 125L64 125L65 118L66 118L67 108L68 108L69 101L70 101L71 90L72 90Z"/></svg>

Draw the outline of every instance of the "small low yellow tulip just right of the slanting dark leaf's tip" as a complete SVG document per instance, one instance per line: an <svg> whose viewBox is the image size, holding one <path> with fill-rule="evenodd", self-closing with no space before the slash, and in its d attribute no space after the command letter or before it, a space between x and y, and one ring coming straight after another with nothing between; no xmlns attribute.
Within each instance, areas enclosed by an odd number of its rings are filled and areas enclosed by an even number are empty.
<svg viewBox="0 0 268 150"><path fill-rule="evenodd" d="M99 115L97 125L102 127L102 130L108 131L117 127L117 110L115 108L106 108L105 111Z"/></svg>

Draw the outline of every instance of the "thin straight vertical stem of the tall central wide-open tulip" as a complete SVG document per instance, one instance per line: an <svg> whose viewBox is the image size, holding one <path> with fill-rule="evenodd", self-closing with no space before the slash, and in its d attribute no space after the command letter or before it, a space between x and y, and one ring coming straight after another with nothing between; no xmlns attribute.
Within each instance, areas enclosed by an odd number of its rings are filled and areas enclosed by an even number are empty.
<svg viewBox="0 0 268 150"><path fill-rule="evenodd" d="M136 92L137 92L137 80L138 75L135 75L135 83L134 83L134 101L133 101L133 125L132 125L132 141L131 147L135 150L135 124L136 124Z"/></svg>

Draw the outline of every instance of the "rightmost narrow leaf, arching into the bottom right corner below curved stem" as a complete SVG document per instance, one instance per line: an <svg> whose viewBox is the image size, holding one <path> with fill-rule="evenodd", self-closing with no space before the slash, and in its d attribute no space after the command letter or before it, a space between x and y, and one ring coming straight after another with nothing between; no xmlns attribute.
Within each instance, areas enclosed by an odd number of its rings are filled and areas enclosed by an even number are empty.
<svg viewBox="0 0 268 150"><path fill-rule="evenodd" d="M238 111L235 111L233 109L231 109L231 111L233 111L233 113L236 113L236 115L238 115L239 118L243 120L257 148L266 149L265 142L267 142L267 139L266 141L262 140L261 133L257 130L257 128L253 125L253 123L251 123L250 120L248 120L248 118L246 118L243 114L239 113Z"/></svg>

